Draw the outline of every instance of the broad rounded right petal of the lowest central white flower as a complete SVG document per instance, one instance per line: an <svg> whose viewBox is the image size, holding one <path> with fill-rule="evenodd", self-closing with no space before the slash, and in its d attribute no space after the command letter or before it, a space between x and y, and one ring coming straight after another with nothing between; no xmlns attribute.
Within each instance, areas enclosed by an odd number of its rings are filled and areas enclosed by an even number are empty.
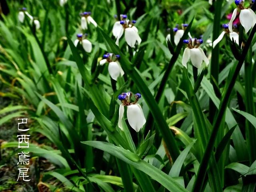
<svg viewBox="0 0 256 192"><path fill-rule="evenodd" d="M140 104L132 104L127 106L127 119L130 126L136 132L139 132L143 125L146 123L146 119Z"/></svg>

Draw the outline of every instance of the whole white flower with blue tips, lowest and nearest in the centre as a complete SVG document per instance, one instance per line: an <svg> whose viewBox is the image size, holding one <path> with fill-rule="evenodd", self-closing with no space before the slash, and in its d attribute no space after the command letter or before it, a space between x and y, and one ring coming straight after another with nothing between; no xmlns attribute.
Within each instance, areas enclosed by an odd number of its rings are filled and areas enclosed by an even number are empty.
<svg viewBox="0 0 256 192"><path fill-rule="evenodd" d="M119 107L119 118L118 118L118 127L121 130L123 129L122 126L122 118L124 116L124 106L127 106L127 120L130 126L136 131L139 132L140 129L144 126L146 123L146 119L144 117L142 108L140 104L138 104L138 99L141 97L139 93L135 94L135 101L130 102L131 93L122 93L118 96L118 99L122 102L122 104Z"/></svg>

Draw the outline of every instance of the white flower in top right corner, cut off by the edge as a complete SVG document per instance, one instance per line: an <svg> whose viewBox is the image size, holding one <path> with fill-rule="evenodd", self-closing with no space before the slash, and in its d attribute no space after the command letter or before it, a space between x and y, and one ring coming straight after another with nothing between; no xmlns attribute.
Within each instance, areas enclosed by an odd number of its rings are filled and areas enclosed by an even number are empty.
<svg viewBox="0 0 256 192"><path fill-rule="evenodd" d="M238 6L238 8L235 8L233 11L232 17L228 25L228 29L230 32L233 32L232 24L236 18L237 11L240 10L239 20L241 25L244 27L245 32L247 33L256 24L256 14L252 9L250 9L252 4L250 3L250 6L248 8L244 8L243 0L235 0L235 4Z"/></svg>

